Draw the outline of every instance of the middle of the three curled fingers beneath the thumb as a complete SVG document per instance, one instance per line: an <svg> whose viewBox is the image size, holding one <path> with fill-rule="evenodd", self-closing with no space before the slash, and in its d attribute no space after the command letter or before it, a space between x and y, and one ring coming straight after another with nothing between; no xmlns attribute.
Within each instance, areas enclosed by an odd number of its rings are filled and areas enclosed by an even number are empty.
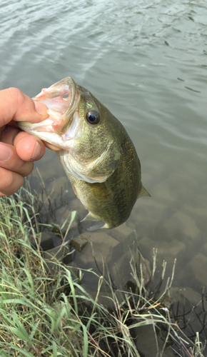
<svg viewBox="0 0 207 357"><path fill-rule="evenodd" d="M0 167L21 176L28 176L34 168L34 163L21 160L14 146L0 142Z"/></svg>

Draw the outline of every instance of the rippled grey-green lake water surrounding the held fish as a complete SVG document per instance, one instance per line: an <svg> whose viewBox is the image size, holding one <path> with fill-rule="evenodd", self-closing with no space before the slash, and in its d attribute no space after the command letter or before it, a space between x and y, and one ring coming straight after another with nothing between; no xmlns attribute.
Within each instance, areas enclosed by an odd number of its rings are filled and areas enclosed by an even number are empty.
<svg viewBox="0 0 207 357"><path fill-rule="evenodd" d="M171 274L177 258L173 286L201 293L207 271L206 1L11 0L1 1L0 11L1 89L16 86L34 96L71 76L107 106L131 136L151 193L137 201L126 226L136 230L150 261L158 248L158 270L165 259ZM65 177L54 152L36 166L46 186ZM66 191L76 202L70 186Z"/></svg>

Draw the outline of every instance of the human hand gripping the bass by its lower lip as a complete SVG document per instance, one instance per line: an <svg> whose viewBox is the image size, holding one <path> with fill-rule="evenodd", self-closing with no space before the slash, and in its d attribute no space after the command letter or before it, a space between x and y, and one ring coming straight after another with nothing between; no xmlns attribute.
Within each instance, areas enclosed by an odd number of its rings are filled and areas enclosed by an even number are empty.
<svg viewBox="0 0 207 357"><path fill-rule="evenodd" d="M38 123L46 119L47 106L19 89L0 91L0 196L16 192L31 174L34 162L45 153L41 139L21 131L16 121ZM57 150L50 146L49 149Z"/></svg>

